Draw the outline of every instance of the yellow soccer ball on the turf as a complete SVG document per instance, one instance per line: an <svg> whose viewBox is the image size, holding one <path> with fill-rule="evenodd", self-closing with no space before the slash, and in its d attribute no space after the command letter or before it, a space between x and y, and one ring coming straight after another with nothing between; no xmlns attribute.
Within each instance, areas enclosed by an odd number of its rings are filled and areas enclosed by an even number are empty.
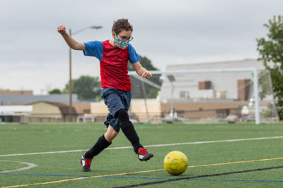
<svg viewBox="0 0 283 188"><path fill-rule="evenodd" d="M164 158L164 168L171 175L180 175L187 170L187 157L180 151L171 151Z"/></svg>

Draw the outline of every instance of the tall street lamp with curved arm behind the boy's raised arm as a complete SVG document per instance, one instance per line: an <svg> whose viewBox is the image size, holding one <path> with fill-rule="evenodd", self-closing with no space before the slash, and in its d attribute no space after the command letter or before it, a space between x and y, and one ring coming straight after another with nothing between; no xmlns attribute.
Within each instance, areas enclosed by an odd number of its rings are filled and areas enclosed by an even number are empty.
<svg viewBox="0 0 283 188"><path fill-rule="evenodd" d="M69 35L70 36L73 36L73 35L76 35L78 34L79 32L82 32L84 30L88 30L88 29L101 29L102 26L96 26L96 25L93 25L91 27L85 27L81 30L78 30L76 32L71 32L71 28L69 29ZM69 47L69 116L70 116L70 121L72 121L73 119L73 113L71 111L71 108L73 107L73 101L72 101L72 98L71 98L71 94L72 94L72 81L71 81L71 48Z"/></svg>

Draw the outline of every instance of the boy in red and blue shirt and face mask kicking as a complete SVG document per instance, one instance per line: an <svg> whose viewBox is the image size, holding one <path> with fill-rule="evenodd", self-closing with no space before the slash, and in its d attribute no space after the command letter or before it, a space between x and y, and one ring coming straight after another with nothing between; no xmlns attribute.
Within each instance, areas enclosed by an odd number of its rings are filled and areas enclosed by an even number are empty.
<svg viewBox="0 0 283 188"><path fill-rule="evenodd" d="M131 142L139 160L149 160L154 155L147 152L139 143L139 136L136 130L134 130L134 125L129 120L127 113L132 98L131 82L127 68L128 61L142 78L151 78L151 73L141 66L137 52L129 44L133 39L132 25L127 19L115 21L112 26L112 39L104 42L76 42L76 40L67 34L64 25L57 27L57 31L62 35L71 49L82 50L85 56L95 56L99 59L102 87L101 97L109 110L107 120L105 121L108 130L81 157L82 171L91 171L90 167L93 157L110 146L112 139L117 136L120 129L127 139L129 139L129 142Z"/></svg>

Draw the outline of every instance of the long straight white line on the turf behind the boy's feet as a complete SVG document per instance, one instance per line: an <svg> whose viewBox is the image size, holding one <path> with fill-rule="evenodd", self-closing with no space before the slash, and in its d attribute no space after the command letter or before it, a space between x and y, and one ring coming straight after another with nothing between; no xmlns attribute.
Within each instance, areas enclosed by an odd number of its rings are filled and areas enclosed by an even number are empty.
<svg viewBox="0 0 283 188"><path fill-rule="evenodd" d="M260 138L250 138L250 139L225 139L225 140L214 140L214 141L204 141L204 142L184 142L184 143L174 143L174 144L157 144L157 145L147 145L147 146L144 146L144 147L178 146L178 145L192 145L192 144L211 144L211 143L219 143L219 142L239 142L239 141L251 141L251 140L260 140L260 139L283 139L283 136L260 137ZM110 150L110 149L129 149L129 148L132 148L132 146L107 148L107 150ZM50 151L50 152L38 152L38 153L6 154L6 155L0 155L0 157L30 156L30 155L51 154L51 153L71 153L71 152L81 152L81 151L88 151L88 149L69 150L69 151Z"/></svg>

